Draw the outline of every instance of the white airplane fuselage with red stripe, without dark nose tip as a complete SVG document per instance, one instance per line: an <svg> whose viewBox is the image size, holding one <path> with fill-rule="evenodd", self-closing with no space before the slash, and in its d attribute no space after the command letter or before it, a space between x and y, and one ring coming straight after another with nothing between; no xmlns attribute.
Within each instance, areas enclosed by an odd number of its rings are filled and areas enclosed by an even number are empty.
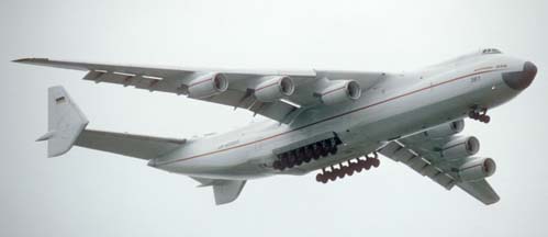
<svg viewBox="0 0 548 237"><path fill-rule="evenodd" d="M507 102L522 90L511 88L502 75L521 71L524 64L505 55L481 55L391 76L357 101L311 108L289 124L256 123L188 140L149 166L210 179L305 174L372 153L387 140L463 119L471 108L492 109ZM272 169L273 150L333 133L343 142L336 155L283 171Z"/></svg>

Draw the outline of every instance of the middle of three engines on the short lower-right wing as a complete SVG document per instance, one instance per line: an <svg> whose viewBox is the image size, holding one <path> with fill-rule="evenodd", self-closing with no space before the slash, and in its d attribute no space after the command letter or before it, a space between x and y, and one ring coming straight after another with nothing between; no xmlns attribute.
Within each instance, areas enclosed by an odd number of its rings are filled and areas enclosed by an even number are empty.
<svg viewBox="0 0 548 237"><path fill-rule="evenodd" d="M473 156L480 150L480 140L474 136L452 137L441 147L444 159L455 159Z"/></svg>

